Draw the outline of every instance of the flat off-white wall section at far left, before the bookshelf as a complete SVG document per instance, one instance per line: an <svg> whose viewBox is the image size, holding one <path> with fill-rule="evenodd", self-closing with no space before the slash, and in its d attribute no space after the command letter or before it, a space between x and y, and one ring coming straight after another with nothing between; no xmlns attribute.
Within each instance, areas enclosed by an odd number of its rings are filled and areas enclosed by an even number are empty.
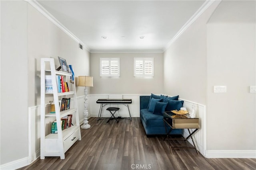
<svg viewBox="0 0 256 170"><path fill-rule="evenodd" d="M1 164L28 155L27 5L1 3Z"/></svg>

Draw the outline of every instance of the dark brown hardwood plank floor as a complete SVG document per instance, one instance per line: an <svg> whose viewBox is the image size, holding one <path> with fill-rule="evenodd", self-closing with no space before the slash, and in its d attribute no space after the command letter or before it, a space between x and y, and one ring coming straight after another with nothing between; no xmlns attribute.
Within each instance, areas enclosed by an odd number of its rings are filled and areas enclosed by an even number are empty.
<svg viewBox="0 0 256 170"><path fill-rule="evenodd" d="M146 137L140 118L89 119L90 129L81 129L77 141L60 157L36 160L20 170L255 170L256 159L204 158L194 149L173 149L163 137ZM184 145L184 141L171 141ZM190 145L188 142L185 145Z"/></svg>

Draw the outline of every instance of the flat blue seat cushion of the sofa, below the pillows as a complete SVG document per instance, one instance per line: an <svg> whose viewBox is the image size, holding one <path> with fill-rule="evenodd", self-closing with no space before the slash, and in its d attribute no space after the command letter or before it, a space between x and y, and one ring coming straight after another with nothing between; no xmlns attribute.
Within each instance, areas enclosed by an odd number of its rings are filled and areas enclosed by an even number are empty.
<svg viewBox="0 0 256 170"><path fill-rule="evenodd" d="M163 116L153 114L148 109L141 109L140 116L148 126L164 126Z"/></svg>

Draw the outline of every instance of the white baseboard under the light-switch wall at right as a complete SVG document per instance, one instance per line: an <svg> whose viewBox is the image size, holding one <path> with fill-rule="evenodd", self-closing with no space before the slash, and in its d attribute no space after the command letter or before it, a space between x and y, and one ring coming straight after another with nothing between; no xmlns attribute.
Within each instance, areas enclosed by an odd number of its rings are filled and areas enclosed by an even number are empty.
<svg viewBox="0 0 256 170"><path fill-rule="evenodd" d="M256 158L256 150L206 150L206 158Z"/></svg>

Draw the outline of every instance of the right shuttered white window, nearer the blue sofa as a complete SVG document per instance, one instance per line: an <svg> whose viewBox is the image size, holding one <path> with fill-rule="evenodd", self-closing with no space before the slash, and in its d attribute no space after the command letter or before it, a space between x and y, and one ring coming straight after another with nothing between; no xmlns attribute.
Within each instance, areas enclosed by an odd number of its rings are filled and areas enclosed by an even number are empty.
<svg viewBox="0 0 256 170"><path fill-rule="evenodd" d="M154 58L134 58L135 77L154 76Z"/></svg>

